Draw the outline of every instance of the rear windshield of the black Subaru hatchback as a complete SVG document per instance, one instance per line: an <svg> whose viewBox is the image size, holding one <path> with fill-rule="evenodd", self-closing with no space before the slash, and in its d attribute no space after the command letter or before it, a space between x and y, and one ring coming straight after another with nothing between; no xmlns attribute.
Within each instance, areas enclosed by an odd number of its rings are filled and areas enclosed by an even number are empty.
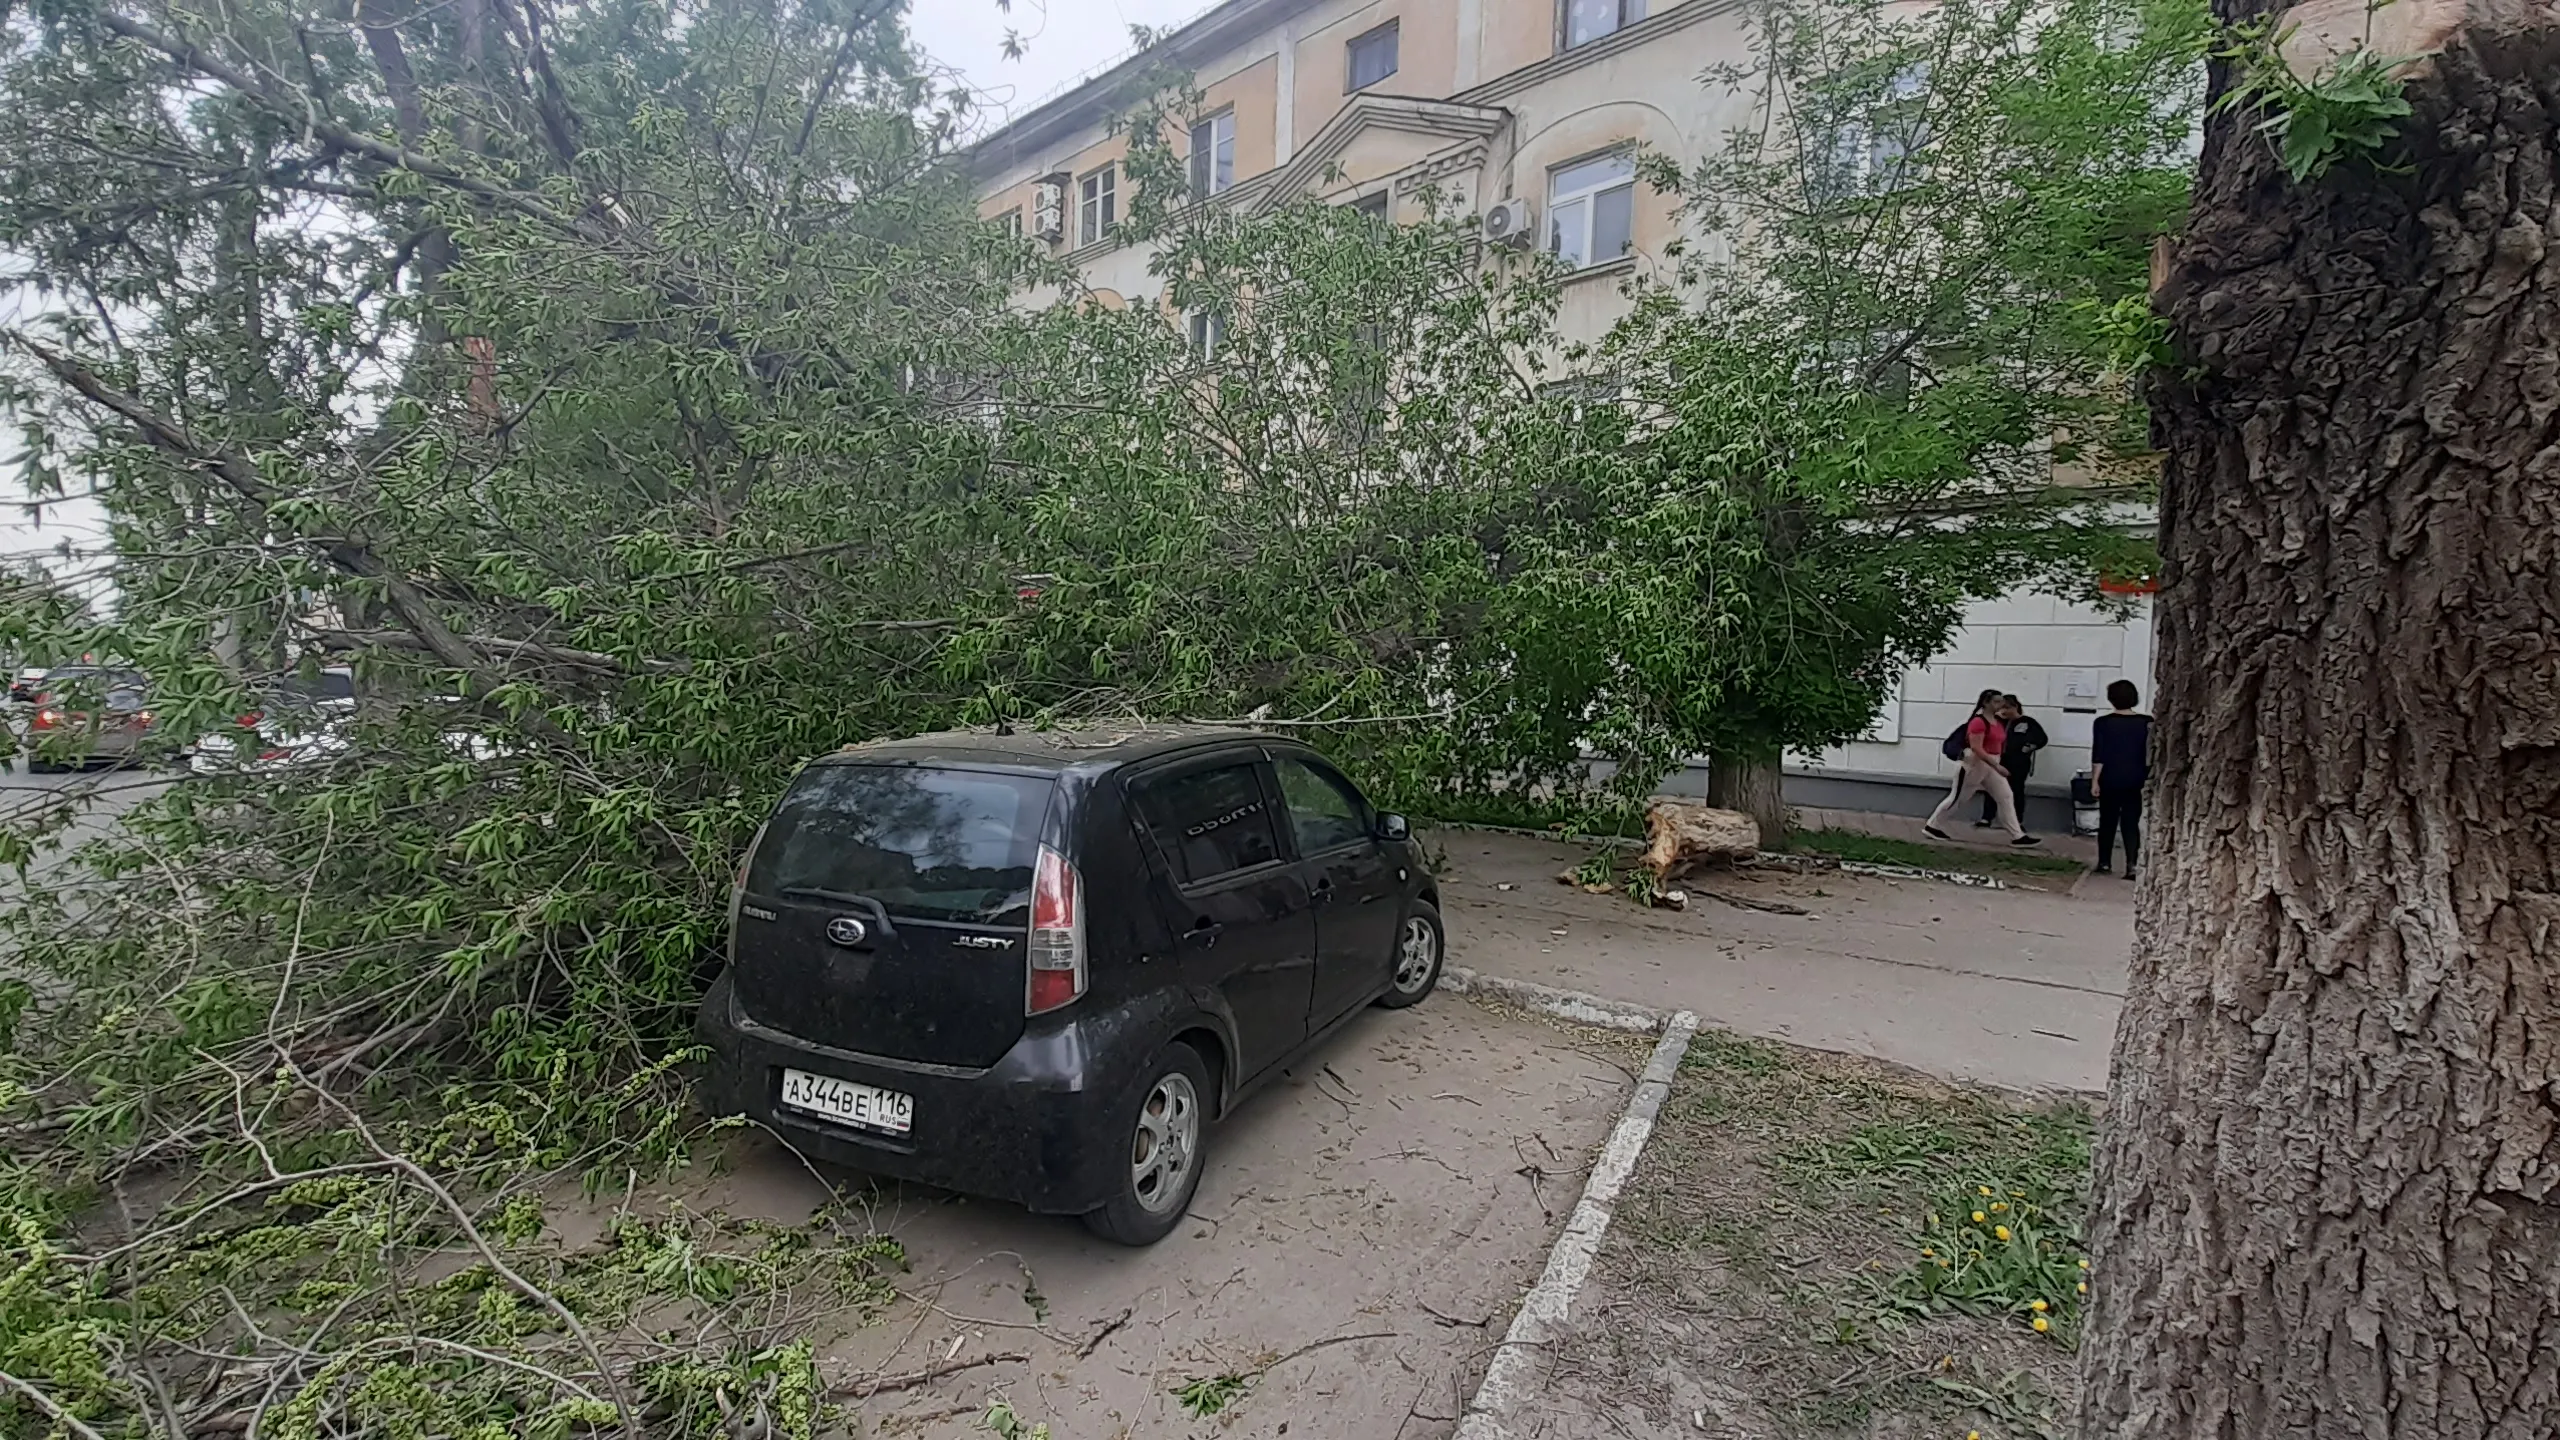
<svg viewBox="0 0 2560 1440"><path fill-rule="evenodd" d="M922 920L1029 922L1047 812L1047 776L812 766L765 825L748 889L860 894Z"/></svg>

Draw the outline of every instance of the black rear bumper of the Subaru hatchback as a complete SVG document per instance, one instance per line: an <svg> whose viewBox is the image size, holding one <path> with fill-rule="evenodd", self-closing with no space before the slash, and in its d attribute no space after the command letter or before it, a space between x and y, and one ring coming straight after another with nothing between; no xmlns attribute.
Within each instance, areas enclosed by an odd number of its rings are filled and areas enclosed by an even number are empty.
<svg viewBox="0 0 2560 1440"><path fill-rule="evenodd" d="M922 1066L835 1051L740 1015L730 974L701 997L696 1035L712 1051L701 1099L714 1115L745 1115L794 1148L855 1171L1009 1199L1042 1215L1101 1209L1111 1168L1114 1102L1096 1089L1080 1025L1024 1033L983 1071ZM906 1135L858 1130L781 1104L783 1068L870 1084L916 1102Z"/></svg>

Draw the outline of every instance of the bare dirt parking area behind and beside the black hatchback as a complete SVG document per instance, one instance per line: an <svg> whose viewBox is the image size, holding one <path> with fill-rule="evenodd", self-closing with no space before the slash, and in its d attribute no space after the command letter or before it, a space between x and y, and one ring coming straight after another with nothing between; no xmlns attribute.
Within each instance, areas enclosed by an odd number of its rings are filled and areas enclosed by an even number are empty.
<svg viewBox="0 0 2560 1440"><path fill-rule="evenodd" d="M1444 1437L1646 1045L1452 994L1370 1012L1213 1135L1193 1220L1152 1250L916 1186L852 1189L835 1227L896 1238L906 1271L819 1350L850 1386L845 1432L986 1435L1004 1399L1057 1440ZM829 1189L750 1135L681 1202L801 1225ZM563 1217L558 1235L599 1227L602 1212ZM965 1368L863 1399L865 1381L945 1366Z"/></svg>

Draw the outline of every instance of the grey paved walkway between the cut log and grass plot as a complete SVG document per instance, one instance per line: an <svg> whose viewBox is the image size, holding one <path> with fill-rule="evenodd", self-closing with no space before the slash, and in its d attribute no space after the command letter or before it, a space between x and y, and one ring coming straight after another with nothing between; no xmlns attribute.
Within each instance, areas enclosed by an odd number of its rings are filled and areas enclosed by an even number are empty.
<svg viewBox="0 0 2560 1440"><path fill-rule="evenodd" d="M1695 1010L1741 1030L2015 1089L2097 1092L2125 997L2132 889L1966 889L1843 874L1705 876L1690 889L1802 904L1687 912L1580 894L1580 848L1441 830L1452 958L1480 971ZM1503 887L1513 889L1503 889Z"/></svg>

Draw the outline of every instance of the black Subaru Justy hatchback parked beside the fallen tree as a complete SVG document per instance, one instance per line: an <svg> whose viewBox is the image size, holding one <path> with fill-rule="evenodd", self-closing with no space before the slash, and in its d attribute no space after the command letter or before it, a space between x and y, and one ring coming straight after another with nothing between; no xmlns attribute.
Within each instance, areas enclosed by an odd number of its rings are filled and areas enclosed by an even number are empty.
<svg viewBox="0 0 2560 1440"><path fill-rule="evenodd" d="M1211 1122L1439 984L1400 815L1285 738L947 733L812 761L701 1002L704 1099L858 1171L1152 1245Z"/></svg>

